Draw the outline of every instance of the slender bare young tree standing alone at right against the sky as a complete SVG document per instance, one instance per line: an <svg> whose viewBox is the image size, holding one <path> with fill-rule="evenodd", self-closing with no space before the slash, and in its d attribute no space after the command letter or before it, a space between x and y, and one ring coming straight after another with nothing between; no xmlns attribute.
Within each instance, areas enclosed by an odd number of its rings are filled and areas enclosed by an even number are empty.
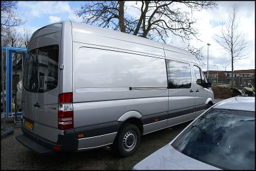
<svg viewBox="0 0 256 171"><path fill-rule="evenodd" d="M234 89L234 61L242 59L245 56L244 51L248 46L245 42L242 31L238 29L239 18L237 15L237 7L233 5L232 12L228 17L228 21L223 23L221 35L216 35L216 41L231 55L232 64L232 88Z"/></svg>

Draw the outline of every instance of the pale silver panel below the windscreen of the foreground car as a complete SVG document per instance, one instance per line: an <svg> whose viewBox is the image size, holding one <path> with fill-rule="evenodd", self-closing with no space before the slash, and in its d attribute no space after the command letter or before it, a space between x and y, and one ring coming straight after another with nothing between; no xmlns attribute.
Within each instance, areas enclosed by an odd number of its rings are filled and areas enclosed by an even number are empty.
<svg viewBox="0 0 256 171"><path fill-rule="evenodd" d="M138 164L133 170L221 170L209 164L192 159L167 144L152 153Z"/></svg>

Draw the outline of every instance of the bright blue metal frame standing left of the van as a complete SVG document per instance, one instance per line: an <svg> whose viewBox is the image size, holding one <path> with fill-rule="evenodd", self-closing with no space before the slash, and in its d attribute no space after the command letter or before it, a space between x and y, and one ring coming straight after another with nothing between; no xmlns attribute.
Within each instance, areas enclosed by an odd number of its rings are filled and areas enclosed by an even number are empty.
<svg viewBox="0 0 256 171"><path fill-rule="evenodd" d="M12 54L26 54L26 48L18 47L3 47L3 52L6 52L6 115L13 116L12 114ZM17 113L18 116L21 112Z"/></svg>

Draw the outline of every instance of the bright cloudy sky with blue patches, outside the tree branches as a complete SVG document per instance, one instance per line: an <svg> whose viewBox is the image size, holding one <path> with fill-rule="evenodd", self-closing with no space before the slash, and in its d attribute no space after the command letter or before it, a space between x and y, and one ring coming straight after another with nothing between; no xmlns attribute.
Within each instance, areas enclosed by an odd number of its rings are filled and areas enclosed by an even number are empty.
<svg viewBox="0 0 256 171"><path fill-rule="evenodd" d="M81 22L74 15L74 11L83 5L84 1L18 1L18 13L26 18L24 27L33 31L49 23L72 20ZM135 3L132 2L132 3ZM245 59L236 60L234 70L255 69L255 1L217 1L217 8L193 12L193 17L198 20L196 28L199 30L199 38L190 40L190 44L196 48L203 47L203 70L207 70L207 43L209 46L209 70L231 70L231 57L217 44L215 35L221 33L221 22L228 18L232 6L236 3L240 18L239 29L244 39L249 43L245 50ZM136 15L136 12L131 11ZM170 37L169 42L173 46L186 48L188 42L182 42L177 37Z"/></svg>

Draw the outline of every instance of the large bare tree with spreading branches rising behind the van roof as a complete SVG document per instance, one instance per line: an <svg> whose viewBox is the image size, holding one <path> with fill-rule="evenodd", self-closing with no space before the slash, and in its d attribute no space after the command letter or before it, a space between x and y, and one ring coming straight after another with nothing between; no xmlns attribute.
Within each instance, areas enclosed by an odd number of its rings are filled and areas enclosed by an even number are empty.
<svg viewBox="0 0 256 171"><path fill-rule="evenodd" d="M216 6L214 1L140 2L140 7L129 7L125 1L91 1L86 2L75 14L91 25L165 42L169 33L182 40L196 37L198 31L194 27L196 20L192 18L192 11ZM189 10L182 10L181 7ZM129 15L129 10L139 10L139 16L135 18Z"/></svg>

